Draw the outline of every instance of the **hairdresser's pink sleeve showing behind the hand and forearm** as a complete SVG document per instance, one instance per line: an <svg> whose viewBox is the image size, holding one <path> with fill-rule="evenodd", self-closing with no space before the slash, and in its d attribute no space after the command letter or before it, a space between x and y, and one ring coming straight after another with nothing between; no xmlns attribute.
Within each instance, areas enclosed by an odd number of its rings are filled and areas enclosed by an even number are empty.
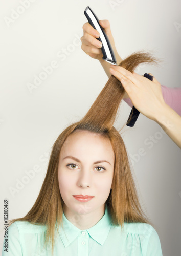
<svg viewBox="0 0 181 256"><path fill-rule="evenodd" d="M181 88L161 86L162 95L165 103L181 116ZM123 99L132 108L132 102L128 99Z"/></svg>

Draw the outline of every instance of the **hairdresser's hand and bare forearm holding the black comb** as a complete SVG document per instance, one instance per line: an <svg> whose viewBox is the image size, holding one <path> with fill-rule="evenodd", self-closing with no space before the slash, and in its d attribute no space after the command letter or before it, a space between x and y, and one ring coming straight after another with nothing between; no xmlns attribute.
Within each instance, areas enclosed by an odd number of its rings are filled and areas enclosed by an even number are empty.
<svg viewBox="0 0 181 256"><path fill-rule="evenodd" d="M155 78L150 81L119 66L111 65L111 68L111 74L121 81L135 108L156 121L181 148L181 117L165 103L161 84Z"/></svg>

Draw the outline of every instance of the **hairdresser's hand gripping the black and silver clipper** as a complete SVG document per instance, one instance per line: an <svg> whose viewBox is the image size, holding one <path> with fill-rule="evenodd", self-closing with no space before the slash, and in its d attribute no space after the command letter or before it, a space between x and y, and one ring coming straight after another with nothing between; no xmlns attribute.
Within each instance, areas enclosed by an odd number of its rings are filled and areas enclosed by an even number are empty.
<svg viewBox="0 0 181 256"><path fill-rule="evenodd" d="M116 50L115 41L114 41L114 38L113 38L111 30L110 30L109 21L106 19L100 20L99 24L104 28L105 33L106 33L107 37L109 38L110 44L115 53L117 63L120 63L122 61L122 59ZM109 71L110 64L102 59L102 57L103 57L103 54L101 51L102 44L97 39L100 37L99 32L96 29L94 29L88 22L86 22L82 28L83 28L83 36L80 38L82 41L82 46L81 46L82 50L86 54L88 54L90 57L92 57L94 59L98 59L102 65L102 67L104 68L107 76L110 77L111 76L111 73Z"/></svg>

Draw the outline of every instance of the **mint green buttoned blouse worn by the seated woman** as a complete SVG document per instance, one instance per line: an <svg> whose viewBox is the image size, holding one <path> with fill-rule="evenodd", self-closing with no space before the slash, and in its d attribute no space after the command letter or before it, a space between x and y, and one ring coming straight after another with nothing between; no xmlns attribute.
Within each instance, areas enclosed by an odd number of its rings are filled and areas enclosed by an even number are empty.
<svg viewBox="0 0 181 256"><path fill-rule="evenodd" d="M45 226L16 221L8 228L8 252L2 256L50 256L51 247L42 248ZM124 223L112 226L106 205L102 219L93 227L80 230L63 214L63 228L59 228L54 256L162 256L159 236L146 223Z"/></svg>

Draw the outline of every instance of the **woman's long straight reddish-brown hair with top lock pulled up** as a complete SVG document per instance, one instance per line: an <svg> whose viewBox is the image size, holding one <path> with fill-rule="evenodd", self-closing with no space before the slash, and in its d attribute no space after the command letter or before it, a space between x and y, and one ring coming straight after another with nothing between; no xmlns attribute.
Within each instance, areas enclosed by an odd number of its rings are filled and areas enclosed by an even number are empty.
<svg viewBox="0 0 181 256"><path fill-rule="evenodd" d="M123 60L119 66L133 72L140 63L144 62L155 63L156 61L149 53L137 52ZM113 189L111 189L106 203L111 212L112 224L120 225L122 228L124 222L151 224L144 215L138 200L123 139L113 126L124 93L121 82L111 75L87 114L79 122L67 127L55 141L46 177L31 210L25 217L10 221L10 224L15 221L28 221L36 225L46 225L45 244L51 241L52 254L55 227L57 225L56 231L58 231L59 226L62 225L63 215L63 200L58 183L59 155L64 141L75 131L87 130L98 133L111 142L115 153L115 166L112 181Z"/></svg>

